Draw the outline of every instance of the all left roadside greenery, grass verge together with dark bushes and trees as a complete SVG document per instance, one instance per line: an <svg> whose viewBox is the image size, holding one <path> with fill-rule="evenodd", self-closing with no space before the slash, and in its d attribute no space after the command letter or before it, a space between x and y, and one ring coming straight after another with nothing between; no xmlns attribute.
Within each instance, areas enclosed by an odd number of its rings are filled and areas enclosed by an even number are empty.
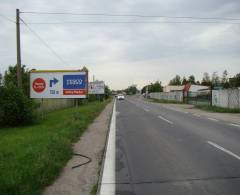
<svg viewBox="0 0 240 195"><path fill-rule="evenodd" d="M0 194L41 194L72 156L72 143L109 103L111 91L78 101L78 107L46 113L29 97L29 70L22 88L16 66L0 74ZM107 100L106 100L107 99Z"/></svg>

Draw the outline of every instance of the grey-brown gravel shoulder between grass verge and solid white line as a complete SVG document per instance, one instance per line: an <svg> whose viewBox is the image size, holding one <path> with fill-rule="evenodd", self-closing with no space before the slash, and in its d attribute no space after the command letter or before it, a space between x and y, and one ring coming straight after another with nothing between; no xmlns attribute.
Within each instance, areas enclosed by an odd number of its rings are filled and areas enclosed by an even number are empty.
<svg viewBox="0 0 240 195"><path fill-rule="evenodd" d="M102 113L88 127L80 140L73 145L74 153L86 155L92 161L72 169L73 166L86 162L86 158L73 156L66 164L55 182L48 186L43 195L89 195L98 181L99 163L112 114L113 102L109 103Z"/></svg>

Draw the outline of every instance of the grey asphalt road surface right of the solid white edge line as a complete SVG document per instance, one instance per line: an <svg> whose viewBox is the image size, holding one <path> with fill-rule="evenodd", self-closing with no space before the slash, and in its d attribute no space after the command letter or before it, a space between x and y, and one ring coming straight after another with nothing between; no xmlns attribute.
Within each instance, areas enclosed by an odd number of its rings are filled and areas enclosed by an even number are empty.
<svg viewBox="0 0 240 195"><path fill-rule="evenodd" d="M115 170L117 195L239 195L240 126L116 101Z"/></svg>

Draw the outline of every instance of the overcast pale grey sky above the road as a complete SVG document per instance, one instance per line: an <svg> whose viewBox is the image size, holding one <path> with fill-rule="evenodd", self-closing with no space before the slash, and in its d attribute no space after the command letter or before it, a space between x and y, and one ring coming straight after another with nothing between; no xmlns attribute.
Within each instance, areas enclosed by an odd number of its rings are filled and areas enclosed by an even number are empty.
<svg viewBox="0 0 240 195"><path fill-rule="evenodd" d="M32 23L28 24L30 28L62 59L21 24L22 64L29 69L86 66L90 80L94 75L111 89L132 84L141 88L156 80L166 85L176 74L193 74L201 80L204 72L218 72L220 76L225 69L229 76L240 72L240 24L236 24L240 23L239 0L0 0L2 16L15 20L16 8L22 12L239 19L221 23L161 23L202 20L22 13L21 18ZM33 24L51 22L55 24ZM90 23L56 24L59 22ZM16 64L16 29L13 22L1 16L0 26L3 73L9 65Z"/></svg>

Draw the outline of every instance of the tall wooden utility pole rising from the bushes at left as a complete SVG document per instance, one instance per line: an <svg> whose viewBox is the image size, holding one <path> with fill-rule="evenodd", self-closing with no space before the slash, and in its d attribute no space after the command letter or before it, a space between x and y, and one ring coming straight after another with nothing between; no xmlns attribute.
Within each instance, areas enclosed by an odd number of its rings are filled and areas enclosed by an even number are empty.
<svg viewBox="0 0 240 195"><path fill-rule="evenodd" d="M22 88L21 42L20 42L20 11L16 9L16 38L17 38L17 84Z"/></svg>

